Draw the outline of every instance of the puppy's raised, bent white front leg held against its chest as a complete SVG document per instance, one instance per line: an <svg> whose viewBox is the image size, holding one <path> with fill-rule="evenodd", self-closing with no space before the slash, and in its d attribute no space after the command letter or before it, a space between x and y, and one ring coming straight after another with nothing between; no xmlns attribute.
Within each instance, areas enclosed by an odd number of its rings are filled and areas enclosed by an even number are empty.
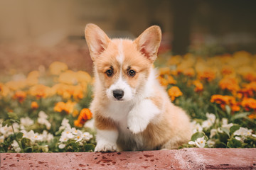
<svg viewBox="0 0 256 170"><path fill-rule="evenodd" d="M129 112L127 128L134 134L143 132L150 121L159 113L159 108L150 99L144 99Z"/></svg>

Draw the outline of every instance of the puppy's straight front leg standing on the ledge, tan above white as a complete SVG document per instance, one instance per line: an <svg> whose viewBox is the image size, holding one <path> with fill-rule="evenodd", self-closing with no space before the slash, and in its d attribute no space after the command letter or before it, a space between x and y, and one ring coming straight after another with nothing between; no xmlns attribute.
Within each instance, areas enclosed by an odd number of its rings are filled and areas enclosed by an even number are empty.
<svg viewBox="0 0 256 170"><path fill-rule="evenodd" d="M95 127L97 128L95 152L117 151L118 130L114 122L100 115L95 115Z"/></svg>

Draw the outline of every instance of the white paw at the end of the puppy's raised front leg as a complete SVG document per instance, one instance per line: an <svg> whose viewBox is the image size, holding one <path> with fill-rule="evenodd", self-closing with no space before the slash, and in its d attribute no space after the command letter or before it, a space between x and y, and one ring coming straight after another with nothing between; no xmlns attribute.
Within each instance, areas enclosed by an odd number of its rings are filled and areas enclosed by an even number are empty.
<svg viewBox="0 0 256 170"><path fill-rule="evenodd" d="M133 134L137 134L139 132L143 132L148 124L149 122L143 118L129 116L127 122L127 129L129 129Z"/></svg>

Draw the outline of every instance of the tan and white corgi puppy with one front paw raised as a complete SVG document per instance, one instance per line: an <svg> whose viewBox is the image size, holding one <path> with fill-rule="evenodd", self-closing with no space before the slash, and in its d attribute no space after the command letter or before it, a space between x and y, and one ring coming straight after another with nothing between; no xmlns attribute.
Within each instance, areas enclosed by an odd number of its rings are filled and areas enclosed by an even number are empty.
<svg viewBox="0 0 256 170"><path fill-rule="evenodd" d="M191 138L186 113L171 103L153 63L161 42L159 26L132 41L110 39L98 26L85 27L94 62L95 152L176 149Z"/></svg>

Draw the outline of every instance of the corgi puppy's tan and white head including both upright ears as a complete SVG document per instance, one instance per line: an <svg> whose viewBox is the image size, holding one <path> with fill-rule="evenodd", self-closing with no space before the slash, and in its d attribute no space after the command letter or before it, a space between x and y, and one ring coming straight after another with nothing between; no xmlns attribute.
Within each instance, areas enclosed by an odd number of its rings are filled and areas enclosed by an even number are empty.
<svg viewBox="0 0 256 170"><path fill-rule="evenodd" d="M147 28L132 40L107 37L94 24L85 27L85 39L95 64L96 81L112 101L130 101L140 95L156 60L161 42L159 26Z"/></svg>

